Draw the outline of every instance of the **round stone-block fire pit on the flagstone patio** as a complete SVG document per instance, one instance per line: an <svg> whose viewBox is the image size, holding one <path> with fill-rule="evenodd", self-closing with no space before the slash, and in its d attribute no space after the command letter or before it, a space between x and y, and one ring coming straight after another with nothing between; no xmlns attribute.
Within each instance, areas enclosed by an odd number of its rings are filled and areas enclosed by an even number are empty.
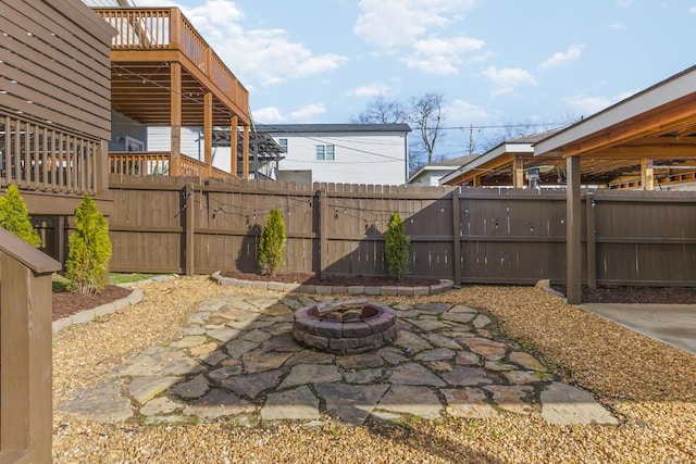
<svg viewBox="0 0 696 464"><path fill-rule="evenodd" d="M295 312L293 338L336 354L376 350L396 338L396 313L366 300L336 301Z"/></svg>

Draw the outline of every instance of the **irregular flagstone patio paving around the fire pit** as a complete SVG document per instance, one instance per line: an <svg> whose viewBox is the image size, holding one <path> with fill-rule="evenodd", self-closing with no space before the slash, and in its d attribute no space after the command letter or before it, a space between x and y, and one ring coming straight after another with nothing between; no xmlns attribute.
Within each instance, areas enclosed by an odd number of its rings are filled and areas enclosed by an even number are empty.
<svg viewBox="0 0 696 464"><path fill-rule="evenodd" d="M314 297L228 293L207 301L175 341L133 355L57 411L96 422L358 425L512 413L551 424L617 423L592 394L558 381L486 314L463 305L398 305L396 340L375 352L307 349L290 336L293 314L332 299Z"/></svg>

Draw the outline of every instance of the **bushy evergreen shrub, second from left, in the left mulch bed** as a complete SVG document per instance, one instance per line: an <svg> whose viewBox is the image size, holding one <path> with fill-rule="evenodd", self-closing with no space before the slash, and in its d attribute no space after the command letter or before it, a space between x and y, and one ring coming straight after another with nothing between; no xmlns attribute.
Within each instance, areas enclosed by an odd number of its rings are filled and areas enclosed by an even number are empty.
<svg viewBox="0 0 696 464"><path fill-rule="evenodd" d="M111 241L107 220L85 193L75 211L75 231L67 239L65 277L69 289L80 293L100 293L104 288Z"/></svg>

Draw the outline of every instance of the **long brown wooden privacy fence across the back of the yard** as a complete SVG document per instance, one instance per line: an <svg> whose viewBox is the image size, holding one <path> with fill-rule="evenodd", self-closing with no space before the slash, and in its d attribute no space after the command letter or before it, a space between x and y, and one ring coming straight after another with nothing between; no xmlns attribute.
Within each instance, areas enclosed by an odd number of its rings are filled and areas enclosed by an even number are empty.
<svg viewBox="0 0 696 464"><path fill-rule="evenodd" d="M463 284L566 281L566 191L294 184L112 176L119 272L258 271L258 240L279 208L283 272L387 275L384 234L399 212L409 275ZM693 286L696 192L583 193L583 280Z"/></svg>

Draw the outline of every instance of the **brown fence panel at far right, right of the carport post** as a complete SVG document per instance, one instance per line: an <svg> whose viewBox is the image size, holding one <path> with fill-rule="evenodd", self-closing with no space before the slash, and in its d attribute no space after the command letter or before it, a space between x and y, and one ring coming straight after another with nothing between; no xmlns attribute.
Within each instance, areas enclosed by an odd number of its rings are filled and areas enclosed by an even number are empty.
<svg viewBox="0 0 696 464"><path fill-rule="evenodd" d="M693 192L597 191L594 203L599 285L694 286Z"/></svg>

